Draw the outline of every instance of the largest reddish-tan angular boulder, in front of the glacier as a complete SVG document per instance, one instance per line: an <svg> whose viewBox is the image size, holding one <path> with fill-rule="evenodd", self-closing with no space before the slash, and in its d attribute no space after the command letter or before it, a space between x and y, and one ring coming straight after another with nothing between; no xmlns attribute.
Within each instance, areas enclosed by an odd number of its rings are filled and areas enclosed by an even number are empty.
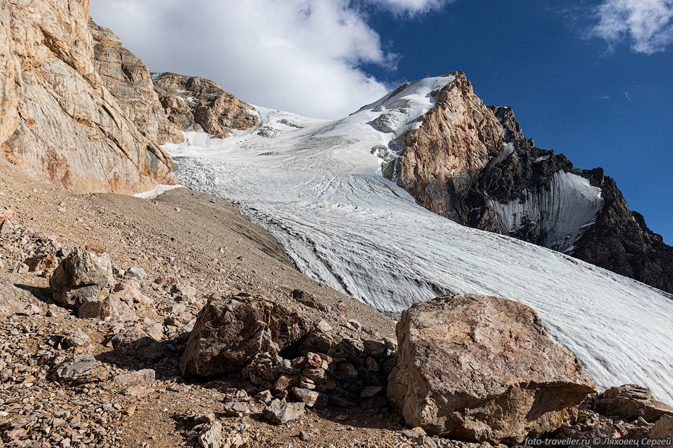
<svg viewBox="0 0 673 448"><path fill-rule="evenodd" d="M410 426L478 442L520 442L559 428L595 391L535 311L483 295L414 304L397 323L388 398Z"/></svg>

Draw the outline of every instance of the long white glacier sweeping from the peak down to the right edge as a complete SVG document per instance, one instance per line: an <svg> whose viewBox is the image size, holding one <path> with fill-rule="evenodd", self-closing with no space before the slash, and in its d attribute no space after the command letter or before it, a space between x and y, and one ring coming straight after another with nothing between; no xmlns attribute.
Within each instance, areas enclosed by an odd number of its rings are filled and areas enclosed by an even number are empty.
<svg viewBox="0 0 673 448"><path fill-rule="evenodd" d="M250 130L220 140L186 134L184 144L165 148L184 185L240 202L309 276L389 311L451 292L519 300L599 387L644 384L673 402L671 297L562 253L465 228L379 176L381 146L416 126L432 106L430 92L450 82L412 83L336 121L259 108L261 124Z"/></svg>

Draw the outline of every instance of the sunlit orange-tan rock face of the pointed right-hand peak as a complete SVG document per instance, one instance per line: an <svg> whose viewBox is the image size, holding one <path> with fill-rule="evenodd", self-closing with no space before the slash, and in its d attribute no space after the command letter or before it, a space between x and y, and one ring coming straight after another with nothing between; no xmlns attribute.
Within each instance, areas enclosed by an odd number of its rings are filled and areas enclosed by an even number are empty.
<svg viewBox="0 0 673 448"><path fill-rule="evenodd" d="M397 165L397 183L419 204L464 222L463 196L489 160L503 148L503 127L477 95L465 73L433 92L435 106L419 129L400 137L405 150Z"/></svg>

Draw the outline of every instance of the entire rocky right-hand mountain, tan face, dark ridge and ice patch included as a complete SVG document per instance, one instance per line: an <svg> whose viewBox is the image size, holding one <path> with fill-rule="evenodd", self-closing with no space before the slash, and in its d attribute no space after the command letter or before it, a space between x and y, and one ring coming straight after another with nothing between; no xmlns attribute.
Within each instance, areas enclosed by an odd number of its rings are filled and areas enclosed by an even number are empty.
<svg viewBox="0 0 673 448"><path fill-rule="evenodd" d="M512 109L484 106L462 73L433 96L423 125L398 139L395 180L416 202L673 292L673 248L602 169L537 148Z"/></svg>

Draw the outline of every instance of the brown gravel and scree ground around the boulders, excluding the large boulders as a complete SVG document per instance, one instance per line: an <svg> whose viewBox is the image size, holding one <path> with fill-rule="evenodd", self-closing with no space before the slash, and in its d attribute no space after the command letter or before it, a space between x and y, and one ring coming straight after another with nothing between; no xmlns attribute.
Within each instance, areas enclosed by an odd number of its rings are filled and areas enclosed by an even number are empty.
<svg viewBox="0 0 673 448"><path fill-rule="evenodd" d="M13 222L18 227L14 235L0 235L0 272L29 289L41 309L32 316L0 317L0 360L4 360L0 371L6 377L0 388L0 428L6 446L199 446L196 437L203 425L198 426L194 418L211 412L226 430L248 437L252 447L409 446L409 434L400 432L402 421L386 409L310 410L298 421L273 426L259 414L224 416L227 394L246 387L238 378L186 381L179 377L179 348L193 317L212 293L272 297L324 318L345 337L394 337L391 318L297 272L280 245L232 204L186 188L156 200L72 195L28 179L0 160L0 207L15 212ZM77 318L50 304L48 274L21 269L25 257L46 251L43 246L67 251L86 244L102 246L109 253L118 281L123 281L121 274L130 267L147 272L148 280L138 283L137 289L149 297L149 304L137 304L135 321ZM175 295L152 284L162 274L196 290L191 303L179 309L182 317L171 325L165 319L175 312L167 311L176 305ZM339 303L340 312L321 312L296 302L291 294L296 289L330 310ZM362 330L349 328L352 320L362 323ZM163 337L156 347L144 347L156 349L161 359L111 347L111 335L148 330L150 324L162 321ZM86 342L59 345L64 335L81 333ZM97 382L53 381L55 365L88 354L97 359ZM114 380L148 367L155 377L144 384ZM306 440L299 438L301 431Z"/></svg>

